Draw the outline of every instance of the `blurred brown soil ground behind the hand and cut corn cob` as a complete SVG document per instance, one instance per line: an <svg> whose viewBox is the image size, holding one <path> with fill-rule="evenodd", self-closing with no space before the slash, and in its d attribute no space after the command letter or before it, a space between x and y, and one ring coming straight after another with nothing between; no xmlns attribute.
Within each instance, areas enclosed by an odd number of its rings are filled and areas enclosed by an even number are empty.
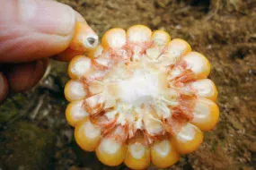
<svg viewBox="0 0 256 170"><path fill-rule="evenodd" d="M200 148L170 169L255 169L255 0L60 0L82 13L100 36L145 24L184 38L212 64L220 120ZM40 84L0 106L0 169L127 169L103 166L75 144L66 123L66 65L51 61ZM149 169L156 169L151 166Z"/></svg>

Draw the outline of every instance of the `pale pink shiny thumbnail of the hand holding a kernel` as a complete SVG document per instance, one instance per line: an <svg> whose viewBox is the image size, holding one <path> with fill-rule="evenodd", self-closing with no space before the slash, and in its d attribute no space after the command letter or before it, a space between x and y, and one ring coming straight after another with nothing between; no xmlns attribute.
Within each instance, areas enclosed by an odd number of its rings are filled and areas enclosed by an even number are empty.
<svg viewBox="0 0 256 170"><path fill-rule="evenodd" d="M66 4L43 0L18 0L19 21L33 29L66 36L75 29L75 11Z"/></svg>

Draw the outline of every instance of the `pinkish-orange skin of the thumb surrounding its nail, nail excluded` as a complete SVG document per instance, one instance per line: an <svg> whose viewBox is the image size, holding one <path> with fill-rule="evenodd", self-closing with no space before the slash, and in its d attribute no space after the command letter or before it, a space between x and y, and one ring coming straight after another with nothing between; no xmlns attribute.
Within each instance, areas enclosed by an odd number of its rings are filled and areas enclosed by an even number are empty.
<svg viewBox="0 0 256 170"><path fill-rule="evenodd" d="M49 31L31 28L27 23L19 21L16 16L18 14L16 11L19 11L17 6L19 5L15 5L15 2L19 1L6 1L6 7L2 8L3 10L0 13L0 18L2 18L0 19L1 63L30 62L43 57L57 55L69 46L74 36L75 21L83 20L80 14L75 13L75 19L70 23L72 29L69 33L53 34Z"/></svg>

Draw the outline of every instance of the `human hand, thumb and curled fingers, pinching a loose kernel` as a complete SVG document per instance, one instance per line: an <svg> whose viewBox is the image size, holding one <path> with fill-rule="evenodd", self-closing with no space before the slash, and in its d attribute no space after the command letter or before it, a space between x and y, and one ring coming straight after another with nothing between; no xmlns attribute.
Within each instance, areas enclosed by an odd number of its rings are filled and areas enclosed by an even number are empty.
<svg viewBox="0 0 256 170"><path fill-rule="evenodd" d="M81 14L51 0L4 0L0 10L0 101L8 91L30 89L48 58L64 51Z"/></svg>

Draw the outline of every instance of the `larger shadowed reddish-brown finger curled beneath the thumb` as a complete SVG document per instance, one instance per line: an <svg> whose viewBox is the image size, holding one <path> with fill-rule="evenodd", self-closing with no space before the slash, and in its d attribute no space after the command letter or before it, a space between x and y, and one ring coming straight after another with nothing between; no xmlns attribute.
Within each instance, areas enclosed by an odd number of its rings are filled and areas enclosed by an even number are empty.
<svg viewBox="0 0 256 170"><path fill-rule="evenodd" d="M48 62L38 60L30 63L10 64L5 71L10 89L13 92L22 92L31 89L43 77Z"/></svg>

